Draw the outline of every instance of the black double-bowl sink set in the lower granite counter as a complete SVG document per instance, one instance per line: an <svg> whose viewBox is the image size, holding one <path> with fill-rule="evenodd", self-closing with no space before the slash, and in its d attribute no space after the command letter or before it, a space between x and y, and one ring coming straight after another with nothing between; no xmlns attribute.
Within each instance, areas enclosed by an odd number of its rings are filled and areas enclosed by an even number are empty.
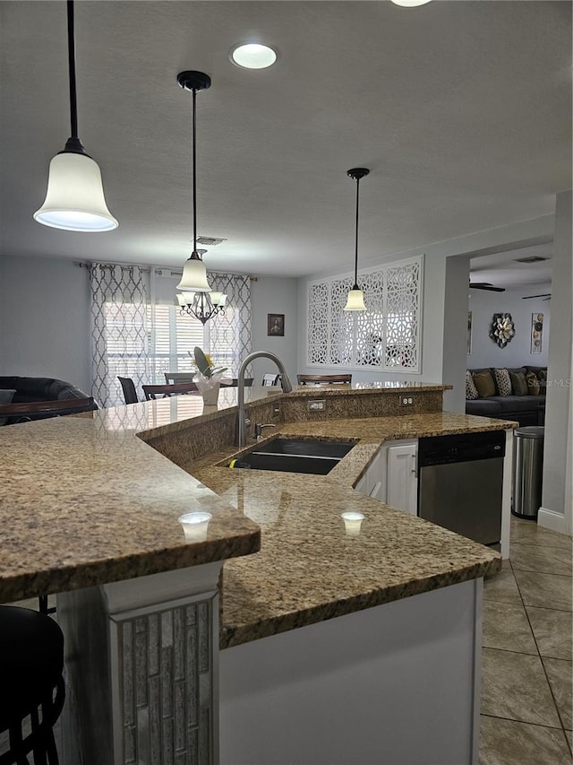
<svg viewBox="0 0 573 765"><path fill-rule="evenodd" d="M228 466L326 475L354 446L348 441L277 438L231 460Z"/></svg>

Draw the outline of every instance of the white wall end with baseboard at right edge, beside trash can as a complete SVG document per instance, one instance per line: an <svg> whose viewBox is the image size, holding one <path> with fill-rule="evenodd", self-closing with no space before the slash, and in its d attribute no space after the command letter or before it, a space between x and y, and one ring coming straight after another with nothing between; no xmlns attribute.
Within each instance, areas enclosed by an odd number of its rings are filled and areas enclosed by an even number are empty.
<svg viewBox="0 0 573 765"><path fill-rule="evenodd" d="M569 534L573 531L573 508L571 507L572 204L573 196L570 191L557 195L552 263L553 328L547 369L542 509L539 511L538 518L540 526Z"/></svg>

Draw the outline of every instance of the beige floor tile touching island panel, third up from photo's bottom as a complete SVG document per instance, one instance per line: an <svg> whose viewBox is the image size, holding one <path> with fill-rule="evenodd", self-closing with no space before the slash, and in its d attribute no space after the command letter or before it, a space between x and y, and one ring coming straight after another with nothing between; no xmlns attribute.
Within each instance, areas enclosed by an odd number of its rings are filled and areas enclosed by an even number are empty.
<svg viewBox="0 0 573 765"><path fill-rule="evenodd" d="M500 648L537 656L537 647L524 606L484 602L482 645L485 648Z"/></svg>

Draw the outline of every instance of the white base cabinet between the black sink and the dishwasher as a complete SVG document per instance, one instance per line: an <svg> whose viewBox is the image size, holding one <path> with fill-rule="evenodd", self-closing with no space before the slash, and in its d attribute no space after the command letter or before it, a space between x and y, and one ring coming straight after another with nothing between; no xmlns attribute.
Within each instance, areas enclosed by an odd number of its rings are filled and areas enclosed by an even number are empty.
<svg viewBox="0 0 573 765"><path fill-rule="evenodd" d="M372 463L356 483L355 490L415 516L418 493L417 447L417 440L389 441L382 444Z"/></svg>

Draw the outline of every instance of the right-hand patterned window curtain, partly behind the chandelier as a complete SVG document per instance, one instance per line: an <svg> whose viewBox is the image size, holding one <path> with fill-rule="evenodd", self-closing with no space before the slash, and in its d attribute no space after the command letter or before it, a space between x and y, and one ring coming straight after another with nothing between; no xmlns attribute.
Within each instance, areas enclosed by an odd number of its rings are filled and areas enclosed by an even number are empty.
<svg viewBox="0 0 573 765"><path fill-rule="evenodd" d="M206 346L219 366L228 367L236 377L241 361L251 350L251 281L248 276L207 274L211 289L227 295L225 316L214 317L205 325Z"/></svg>

